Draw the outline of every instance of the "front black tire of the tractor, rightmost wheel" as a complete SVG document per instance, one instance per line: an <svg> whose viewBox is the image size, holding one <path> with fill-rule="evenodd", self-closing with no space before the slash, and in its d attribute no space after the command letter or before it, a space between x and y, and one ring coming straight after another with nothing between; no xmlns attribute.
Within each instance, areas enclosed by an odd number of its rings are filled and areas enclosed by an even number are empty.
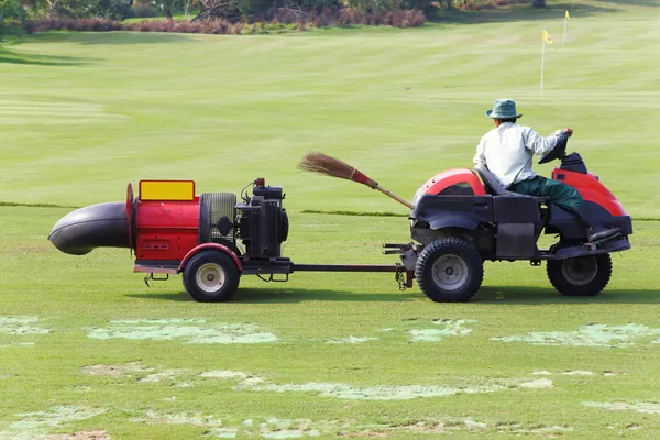
<svg viewBox="0 0 660 440"><path fill-rule="evenodd" d="M549 260L548 278L552 286L565 296L598 295L612 276L609 254Z"/></svg>

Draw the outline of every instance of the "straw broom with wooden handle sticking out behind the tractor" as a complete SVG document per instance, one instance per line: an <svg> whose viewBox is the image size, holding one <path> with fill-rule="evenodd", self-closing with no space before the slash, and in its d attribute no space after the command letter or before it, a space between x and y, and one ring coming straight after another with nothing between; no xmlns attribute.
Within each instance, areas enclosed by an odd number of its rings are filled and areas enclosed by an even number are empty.
<svg viewBox="0 0 660 440"><path fill-rule="evenodd" d="M372 189L377 189L384 195L392 197L399 204L405 205L409 209L415 208L415 205L383 188L376 180L364 175L355 167L327 154L319 152L307 153L305 156L302 156L302 160L298 164L298 168L310 173L322 174L324 176L358 182L359 184L366 185Z"/></svg>

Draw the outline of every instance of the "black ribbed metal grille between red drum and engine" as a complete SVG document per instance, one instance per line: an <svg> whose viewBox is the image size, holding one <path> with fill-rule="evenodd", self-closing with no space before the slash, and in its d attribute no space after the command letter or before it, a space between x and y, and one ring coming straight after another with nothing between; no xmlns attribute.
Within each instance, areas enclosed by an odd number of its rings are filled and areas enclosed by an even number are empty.
<svg viewBox="0 0 660 440"><path fill-rule="evenodd" d="M199 200L199 243L233 242L235 234L233 193L204 193ZM232 227L227 235L220 234L220 219L227 216Z"/></svg>

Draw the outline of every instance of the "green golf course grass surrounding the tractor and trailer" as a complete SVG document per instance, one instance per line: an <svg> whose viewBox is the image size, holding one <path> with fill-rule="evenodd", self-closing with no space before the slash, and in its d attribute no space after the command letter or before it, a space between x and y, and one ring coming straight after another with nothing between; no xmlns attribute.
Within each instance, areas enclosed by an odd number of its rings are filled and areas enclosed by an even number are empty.
<svg viewBox="0 0 660 440"><path fill-rule="evenodd" d="M0 439L658 438L660 9L569 4L562 48L565 7L0 48ZM304 273L198 304L179 276L145 286L128 250L76 257L46 240L70 207L122 200L129 182L239 191L264 176L285 187L295 262L391 263L381 244L409 239L405 217L302 211L405 210L297 172L300 156L339 156L411 199L471 166L499 97L542 134L573 127L569 148L646 219L601 296L562 297L521 262L486 263L469 304L389 274Z"/></svg>

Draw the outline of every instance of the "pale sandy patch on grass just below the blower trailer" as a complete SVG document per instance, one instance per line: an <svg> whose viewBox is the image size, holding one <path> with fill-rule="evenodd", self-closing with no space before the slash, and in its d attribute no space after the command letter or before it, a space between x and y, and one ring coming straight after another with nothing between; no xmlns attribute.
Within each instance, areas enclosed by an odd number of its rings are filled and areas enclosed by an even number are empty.
<svg viewBox="0 0 660 440"><path fill-rule="evenodd" d="M273 333L251 323L211 324L205 319L139 319L109 321L110 328L87 333L92 339L184 340L190 344L232 344L275 342ZM205 324L204 327L194 324Z"/></svg>

